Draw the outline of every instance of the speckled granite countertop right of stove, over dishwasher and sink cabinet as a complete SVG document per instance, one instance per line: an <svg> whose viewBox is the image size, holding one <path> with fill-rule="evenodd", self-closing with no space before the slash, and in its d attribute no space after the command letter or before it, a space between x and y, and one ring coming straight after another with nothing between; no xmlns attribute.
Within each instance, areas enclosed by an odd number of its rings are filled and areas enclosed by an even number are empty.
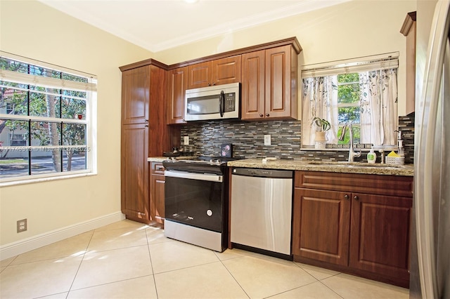
<svg viewBox="0 0 450 299"><path fill-rule="evenodd" d="M366 173L376 175L413 176L412 164L368 164L362 162L301 161L277 159L262 163L262 159L243 159L228 162L228 166L245 168L285 169L292 171L328 171L333 173Z"/></svg>

